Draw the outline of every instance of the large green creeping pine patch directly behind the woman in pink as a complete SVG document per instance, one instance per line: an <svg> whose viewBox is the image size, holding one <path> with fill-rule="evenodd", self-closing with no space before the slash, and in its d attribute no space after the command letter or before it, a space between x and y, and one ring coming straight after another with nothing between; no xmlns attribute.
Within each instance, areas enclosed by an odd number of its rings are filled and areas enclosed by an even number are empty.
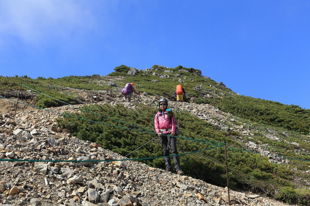
<svg viewBox="0 0 310 206"><path fill-rule="evenodd" d="M156 108L144 106L143 104L137 105L136 108L136 110L128 110L122 105L89 105L84 106L83 109L93 112L92 114L82 112L71 115L120 127L143 130L132 126L138 125L139 127L154 130L154 116L157 113ZM95 115L94 113L102 116ZM191 116L188 112L175 112L175 115L179 121L180 137L217 142L224 142L224 140L226 140L231 147L241 147L240 143L228 137L228 133L220 131L215 125L201 120L198 117ZM132 125L126 125L104 118L103 116L122 120ZM134 151L140 145L145 144L155 135L126 128L115 128L66 116L58 119L57 122L58 126L68 129L74 136L83 140L99 142L104 148L111 149L123 156ZM179 148L182 148L184 153L213 147L213 145L202 144L182 138L178 138L178 144ZM162 156L162 149L158 145L158 142L150 142L131 154L131 158L158 156ZM223 148L217 147L200 153L190 154L187 158L202 180L223 187L226 185ZM150 166L165 168L162 159L143 160L142 162ZM180 162L182 168L188 175L197 178L195 170L193 170L192 166L188 164L183 156L180 157ZM269 162L268 158L261 157L259 154L245 153L237 150L228 153L228 166L230 185L232 188L247 187L251 190L268 191L272 194L274 190L270 187L270 184L275 188L281 188L286 186L288 180L292 177L291 170L285 165L277 165Z"/></svg>

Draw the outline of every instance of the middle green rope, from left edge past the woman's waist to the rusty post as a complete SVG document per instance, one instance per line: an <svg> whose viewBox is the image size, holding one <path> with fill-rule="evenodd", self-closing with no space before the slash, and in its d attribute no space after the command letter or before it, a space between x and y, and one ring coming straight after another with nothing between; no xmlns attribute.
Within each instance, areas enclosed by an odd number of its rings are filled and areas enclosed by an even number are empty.
<svg viewBox="0 0 310 206"><path fill-rule="evenodd" d="M18 102L18 101L16 101L16 100L9 99L9 98L5 98L5 97L3 97L3 96L0 96L0 97L3 98L3 99L11 100L11 101L13 101L13 102L21 103L21 104L24 104L24 105L27 105L27 106L30 106L30 107L35 107L35 108L38 108L38 109L43 109L43 108L41 108L41 107L36 107L36 106L30 105L30 104ZM63 113L56 112L56 111L52 111L52 110L48 110L48 109L43 109L43 110L45 110L45 111L50 111L50 112L54 112L54 113L56 113L56 114L60 114L60 115L64 115L64 116L69 116L69 117L77 118L77 119L80 119L80 120L86 120L86 121L89 121L89 122L94 122L94 123L98 123L98 124L104 124L104 125L111 126L111 127L129 129L129 130L133 130L133 131L139 131L139 132L145 132L145 133L156 134L156 135L157 135L157 133L154 133L154 132L147 132L147 131L142 131L142 130L138 130L138 129L131 129L131 128L121 127L121 126L117 126L117 125L112 125L112 124L105 124L105 123L102 123L102 122L97 122L97 121L93 121L93 120L87 120L87 119L83 119L83 118L80 118L80 117L71 116L71 115L63 114ZM166 135L166 136L170 136L170 135ZM170 137L177 137L177 136L170 136ZM192 140L197 141L196 139L191 139L191 138L186 138L186 137L178 137L178 138L187 139L187 140L191 140L191 141L192 141ZM214 142L214 141L206 141L206 140L199 140L199 141L201 141L201 142L213 142L213 143L219 143L219 144L222 144L222 143L223 143L223 142Z"/></svg>

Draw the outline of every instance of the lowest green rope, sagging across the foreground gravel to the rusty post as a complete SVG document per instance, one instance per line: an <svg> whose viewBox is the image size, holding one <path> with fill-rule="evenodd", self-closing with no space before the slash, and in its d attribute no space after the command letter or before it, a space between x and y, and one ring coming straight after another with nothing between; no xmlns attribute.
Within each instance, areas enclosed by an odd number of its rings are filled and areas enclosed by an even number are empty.
<svg viewBox="0 0 310 206"><path fill-rule="evenodd" d="M223 144L224 145L224 144ZM222 145L217 145L215 147L202 149L198 151L188 152L188 153L182 153L182 154L174 154L169 156L160 156L160 157L149 157L149 158L133 158L133 159L106 159L106 160L31 160L31 159L0 159L0 161L7 161L7 162L115 162L115 161L136 161L136 160L148 160L148 159L158 159L158 158L165 158L165 157L174 157L174 156L180 156L180 155L188 155L192 153L197 152L203 152L209 149L214 149L216 147L219 147Z"/></svg>

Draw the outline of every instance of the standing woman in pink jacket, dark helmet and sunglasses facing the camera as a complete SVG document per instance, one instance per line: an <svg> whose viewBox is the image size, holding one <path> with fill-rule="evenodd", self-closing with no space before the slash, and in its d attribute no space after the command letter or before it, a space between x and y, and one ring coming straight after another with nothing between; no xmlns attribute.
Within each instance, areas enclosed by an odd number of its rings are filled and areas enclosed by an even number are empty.
<svg viewBox="0 0 310 206"><path fill-rule="evenodd" d="M175 136L175 116L171 110L169 112L166 111L168 107L167 99L160 99L158 104L159 108L157 114L155 115L154 124L156 133L160 137L162 151L164 152L164 156L169 156L170 146L172 155L178 154L178 150L176 148L176 137L170 137ZM166 162L166 171L172 172L170 157L165 157L164 160ZM179 156L173 156L173 162L177 174L184 175L184 172L181 170Z"/></svg>

